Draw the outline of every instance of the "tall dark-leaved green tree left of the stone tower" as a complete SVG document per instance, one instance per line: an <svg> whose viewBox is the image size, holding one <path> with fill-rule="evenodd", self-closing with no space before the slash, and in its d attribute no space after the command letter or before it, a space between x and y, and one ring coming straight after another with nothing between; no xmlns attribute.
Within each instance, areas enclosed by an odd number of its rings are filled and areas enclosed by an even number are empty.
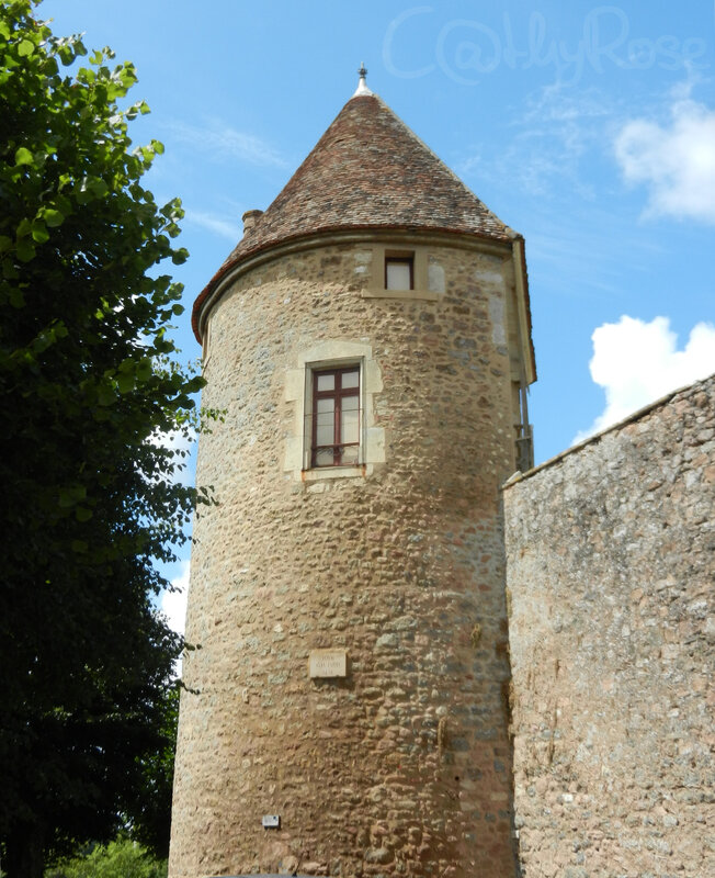
<svg viewBox="0 0 715 878"><path fill-rule="evenodd" d="M104 49L63 72L78 37L31 0L0 11L0 856L38 878L151 822L181 648L155 561L196 499L162 437L188 435L201 380L168 338L181 288L156 267L186 257L182 212L140 185L162 146L128 137L134 67Z"/></svg>

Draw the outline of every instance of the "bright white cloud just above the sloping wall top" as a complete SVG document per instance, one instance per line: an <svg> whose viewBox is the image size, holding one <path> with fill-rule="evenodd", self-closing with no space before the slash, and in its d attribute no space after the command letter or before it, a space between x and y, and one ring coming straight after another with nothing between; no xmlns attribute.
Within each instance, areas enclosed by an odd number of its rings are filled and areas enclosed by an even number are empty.
<svg viewBox="0 0 715 878"><path fill-rule="evenodd" d="M668 317L645 323L623 316L605 323L591 336L591 378L605 390L605 409L580 442L658 399L660 396L715 372L715 326L696 324L685 347L678 350L678 336Z"/></svg>

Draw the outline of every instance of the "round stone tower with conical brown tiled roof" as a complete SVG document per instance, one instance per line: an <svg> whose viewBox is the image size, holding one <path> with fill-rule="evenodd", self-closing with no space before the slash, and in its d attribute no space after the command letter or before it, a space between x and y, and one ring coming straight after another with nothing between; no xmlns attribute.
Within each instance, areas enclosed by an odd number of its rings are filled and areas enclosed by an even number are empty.
<svg viewBox="0 0 715 878"><path fill-rule="evenodd" d="M198 296L171 878L513 878L523 239L365 86ZM522 460L520 465L519 460Z"/></svg>

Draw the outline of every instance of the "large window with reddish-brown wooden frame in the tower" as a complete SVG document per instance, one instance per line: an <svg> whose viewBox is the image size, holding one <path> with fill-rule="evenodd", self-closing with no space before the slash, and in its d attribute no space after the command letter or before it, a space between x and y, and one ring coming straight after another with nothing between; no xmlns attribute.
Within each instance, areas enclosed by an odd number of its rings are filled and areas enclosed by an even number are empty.
<svg viewBox="0 0 715 878"><path fill-rule="evenodd" d="M313 370L311 466L360 463L360 365Z"/></svg>

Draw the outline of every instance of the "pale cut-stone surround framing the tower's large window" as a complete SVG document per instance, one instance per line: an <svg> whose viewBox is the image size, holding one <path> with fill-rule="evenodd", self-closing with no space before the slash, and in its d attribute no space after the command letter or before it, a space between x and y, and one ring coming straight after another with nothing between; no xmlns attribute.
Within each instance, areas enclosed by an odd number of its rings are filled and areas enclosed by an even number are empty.
<svg viewBox="0 0 715 878"><path fill-rule="evenodd" d="M310 412L313 373L321 369L360 365L361 424L360 463L356 466L310 469ZM383 390L383 378L371 345L360 341L321 341L296 357L296 368L288 369L285 398L294 404L293 429L286 437L283 469L296 481L354 479L371 475L376 463L385 462L385 430L375 424L374 395Z"/></svg>

